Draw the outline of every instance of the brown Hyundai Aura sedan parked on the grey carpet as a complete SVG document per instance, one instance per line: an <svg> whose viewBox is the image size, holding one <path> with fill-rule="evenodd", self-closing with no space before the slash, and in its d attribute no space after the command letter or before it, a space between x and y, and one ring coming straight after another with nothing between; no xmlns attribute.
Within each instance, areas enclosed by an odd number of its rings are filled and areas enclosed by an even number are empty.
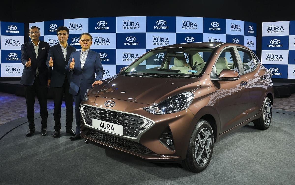
<svg viewBox="0 0 295 185"><path fill-rule="evenodd" d="M200 172L221 137L251 121L267 129L272 103L271 72L249 48L163 46L89 88L80 106L81 137Z"/></svg>

